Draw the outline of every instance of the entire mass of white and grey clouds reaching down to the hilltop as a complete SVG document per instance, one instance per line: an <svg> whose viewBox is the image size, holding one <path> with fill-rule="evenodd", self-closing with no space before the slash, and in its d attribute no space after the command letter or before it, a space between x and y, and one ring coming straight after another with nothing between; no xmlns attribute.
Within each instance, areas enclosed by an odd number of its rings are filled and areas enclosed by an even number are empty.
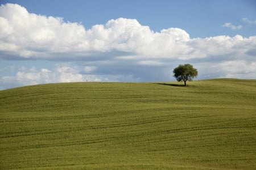
<svg viewBox="0 0 256 170"><path fill-rule="evenodd" d="M231 23L223 26L240 29L240 25ZM31 14L19 5L0 7L1 59L76 63L64 70L60 65L52 70L32 67L15 76L2 76L0 83L168 80L179 63L192 63L201 78L255 79L255 49L256 36L191 39L180 28L154 32L136 19L126 18L111 19L86 29L81 23Z"/></svg>

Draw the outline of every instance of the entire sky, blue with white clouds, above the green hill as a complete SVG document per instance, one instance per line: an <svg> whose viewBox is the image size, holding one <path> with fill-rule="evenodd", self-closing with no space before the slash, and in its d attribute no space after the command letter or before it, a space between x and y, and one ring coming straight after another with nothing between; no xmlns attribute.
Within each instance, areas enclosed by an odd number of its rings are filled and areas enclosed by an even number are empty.
<svg viewBox="0 0 256 170"><path fill-rule="evenodd" d="M256 79L256 1L1 1L0 33L0 89L170 81L180 63Z"/></svg>

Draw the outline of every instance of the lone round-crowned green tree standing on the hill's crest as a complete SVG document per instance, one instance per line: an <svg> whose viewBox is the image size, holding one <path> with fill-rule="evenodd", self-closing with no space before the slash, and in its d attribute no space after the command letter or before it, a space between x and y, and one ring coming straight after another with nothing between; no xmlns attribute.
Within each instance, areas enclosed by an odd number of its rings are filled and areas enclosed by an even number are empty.
<svg viewBox="0 0 256 170"><path fill-rule="evenodd" d="M197 70L190 64L179 65L174 69L174 77L178 82L184 82L184 86L187 86L187 80L191 81L197 76Z"/></svg>

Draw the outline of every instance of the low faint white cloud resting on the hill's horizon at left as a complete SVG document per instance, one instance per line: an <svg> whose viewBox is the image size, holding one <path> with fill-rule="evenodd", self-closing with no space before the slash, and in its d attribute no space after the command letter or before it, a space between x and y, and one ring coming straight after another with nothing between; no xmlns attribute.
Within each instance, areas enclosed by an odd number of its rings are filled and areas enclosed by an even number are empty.
<svg viewBox="0 0 256 170"><path fill-rule="evenodd" d="M101 77L93 74L81 74L68 63L55 65L52 70L20 67L14 76L3 76L0 79L2 87L26 86L31 84L57 83L57 82L85 82L101 81Z"/></svg>

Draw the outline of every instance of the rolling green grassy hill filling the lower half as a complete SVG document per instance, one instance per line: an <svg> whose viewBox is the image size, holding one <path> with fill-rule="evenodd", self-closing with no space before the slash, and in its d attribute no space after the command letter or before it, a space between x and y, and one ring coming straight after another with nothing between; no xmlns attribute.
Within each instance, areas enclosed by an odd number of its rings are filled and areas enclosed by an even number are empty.
<svg viewBox="0 0 256 170"><path fill-rule="evenodd" d="M255 169L256 80L0 91L0 169Z"/></svg>

